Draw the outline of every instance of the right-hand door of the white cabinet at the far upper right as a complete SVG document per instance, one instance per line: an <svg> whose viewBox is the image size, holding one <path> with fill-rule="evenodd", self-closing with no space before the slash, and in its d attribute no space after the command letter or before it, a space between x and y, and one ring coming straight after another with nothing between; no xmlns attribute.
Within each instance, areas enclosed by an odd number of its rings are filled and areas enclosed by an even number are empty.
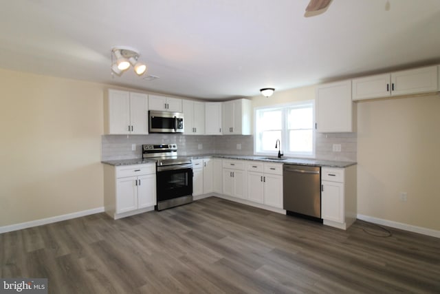
<svg viewBox="0 0 440 294"><path fill-rule="evenodd" d="M437 66L391 73L392 95L437 92Z"/></svg>

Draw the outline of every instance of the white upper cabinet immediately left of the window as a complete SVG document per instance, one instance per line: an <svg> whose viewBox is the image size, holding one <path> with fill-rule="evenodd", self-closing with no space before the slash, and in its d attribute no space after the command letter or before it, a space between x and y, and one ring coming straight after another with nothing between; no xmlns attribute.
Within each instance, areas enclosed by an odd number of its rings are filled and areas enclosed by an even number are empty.
<svg viewBox="0 0 440 294"><path fill-rule="evenodd" d="M251 134L251 102L238 99L223 102L223 134Z"/></svg>

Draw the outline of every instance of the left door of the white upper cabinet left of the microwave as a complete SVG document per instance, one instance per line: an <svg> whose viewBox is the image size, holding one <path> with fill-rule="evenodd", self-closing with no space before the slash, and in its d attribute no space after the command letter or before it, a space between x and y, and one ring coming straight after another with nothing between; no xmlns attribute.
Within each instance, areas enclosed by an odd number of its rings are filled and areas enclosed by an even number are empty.
<svg viewBox="0 0 440 294"><path fill-rule="evenodd" d="M129 134L130 93L126 91L109 90L107 99L107 134Z"/></svg>

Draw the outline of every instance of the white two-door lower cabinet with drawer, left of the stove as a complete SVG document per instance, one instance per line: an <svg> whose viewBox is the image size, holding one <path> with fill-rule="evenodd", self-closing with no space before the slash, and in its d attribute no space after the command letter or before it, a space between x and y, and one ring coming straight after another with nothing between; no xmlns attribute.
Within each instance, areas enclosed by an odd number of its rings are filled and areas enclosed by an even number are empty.
<svg viewBox="0 0 440 294"><path fill-rule="evenodd" d="M112 218L153 210L156 204L155 163L104 165L104 209Z"/></svg>

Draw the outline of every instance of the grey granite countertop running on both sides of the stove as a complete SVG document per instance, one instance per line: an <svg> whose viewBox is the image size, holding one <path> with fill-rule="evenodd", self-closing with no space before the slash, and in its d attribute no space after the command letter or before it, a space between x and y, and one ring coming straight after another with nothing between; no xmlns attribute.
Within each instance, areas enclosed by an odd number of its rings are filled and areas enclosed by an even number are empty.
<svg viewBox="0 0 440 294"><path fill-rule="evenodd" d="M192 155L185 156L191 159L201 159L201 158L225 158L225 159L237 159L237 160L257 160L263 162L279 162L286 165L314 165L320 167L350 167L351 165L356 165L357 162L351 161L337 161L337 160L319 160L313 158L288 158L283 157L283 160L279 160L274 156L245 156L245 155L232 155L232 154L203 154L203 155ZM107 165L140 165L144 163L155 163L156 160L153 159L122 159L122 160L104 160L101 161Z"/></svg>

